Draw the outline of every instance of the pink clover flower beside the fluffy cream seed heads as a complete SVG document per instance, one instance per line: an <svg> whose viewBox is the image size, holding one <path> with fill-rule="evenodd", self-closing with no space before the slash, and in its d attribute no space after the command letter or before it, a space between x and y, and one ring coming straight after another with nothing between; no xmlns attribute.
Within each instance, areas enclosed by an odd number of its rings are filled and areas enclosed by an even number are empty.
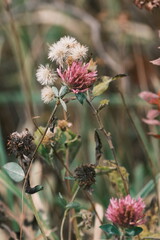
<svg viewBox="0 0 160 240"><path fill-rule="evenodd" d="M66 70L62 72L57 69L62 81L74 92L87 91L97 79L97 71L89 71L88 63L82 64L82 62L73 62L68 66Z"/></svg>

